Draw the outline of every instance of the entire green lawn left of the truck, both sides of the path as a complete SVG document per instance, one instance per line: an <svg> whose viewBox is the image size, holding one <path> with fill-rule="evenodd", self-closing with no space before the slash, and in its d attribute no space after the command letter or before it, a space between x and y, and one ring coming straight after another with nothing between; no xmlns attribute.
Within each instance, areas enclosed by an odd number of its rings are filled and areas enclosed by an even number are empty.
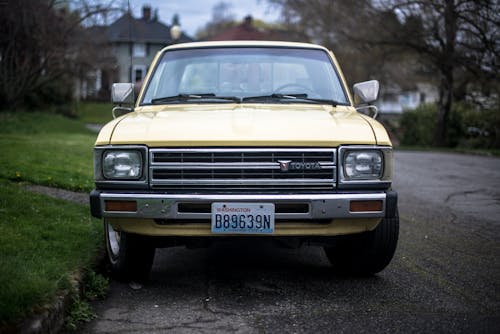
<svg viewBox="0 0 500 334"><path fill-rule="evenodd" d="M0 113L0 332L91 266L103 244L88 205L27 191L24 184L93 188L97 134L81 120L47 113Z"/></svg>

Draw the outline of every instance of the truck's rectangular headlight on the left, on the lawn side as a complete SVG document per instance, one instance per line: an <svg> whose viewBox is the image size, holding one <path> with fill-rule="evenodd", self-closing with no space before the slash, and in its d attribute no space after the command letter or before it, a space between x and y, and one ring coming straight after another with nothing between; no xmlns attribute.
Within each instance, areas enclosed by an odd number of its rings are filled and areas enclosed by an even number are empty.
<svg viewBox="0 0 500 334"><path fill-rule="evenodd" d="M142 155L137 151L105 151L102 172L106 179L137 180L142 176Z"/></svg>

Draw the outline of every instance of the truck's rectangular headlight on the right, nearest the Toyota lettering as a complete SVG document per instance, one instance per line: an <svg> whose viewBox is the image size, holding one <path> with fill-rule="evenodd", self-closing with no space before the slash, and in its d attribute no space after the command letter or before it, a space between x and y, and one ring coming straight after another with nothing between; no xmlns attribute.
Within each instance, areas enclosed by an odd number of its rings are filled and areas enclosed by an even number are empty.
<svg viewBox="0 0 500 334"><path fill-rule="evenodd" d="M347 180L373 180L382 177L384 159L380 151L347 151L344 177Z"/></svg>

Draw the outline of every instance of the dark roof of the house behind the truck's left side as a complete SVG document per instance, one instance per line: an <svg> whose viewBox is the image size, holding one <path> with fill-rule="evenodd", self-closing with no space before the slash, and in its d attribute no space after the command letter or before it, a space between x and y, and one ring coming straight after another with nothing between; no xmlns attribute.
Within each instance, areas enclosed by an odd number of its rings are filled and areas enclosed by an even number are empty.
<svg viewBox="0 0 500 334"><path fill-rule="evenodd" d="M108 26L106 32L110 42L171 44L170 28L157 19L134 18L126 13ZM176 42L191 41L193 38L182 33Z"/></svg>

